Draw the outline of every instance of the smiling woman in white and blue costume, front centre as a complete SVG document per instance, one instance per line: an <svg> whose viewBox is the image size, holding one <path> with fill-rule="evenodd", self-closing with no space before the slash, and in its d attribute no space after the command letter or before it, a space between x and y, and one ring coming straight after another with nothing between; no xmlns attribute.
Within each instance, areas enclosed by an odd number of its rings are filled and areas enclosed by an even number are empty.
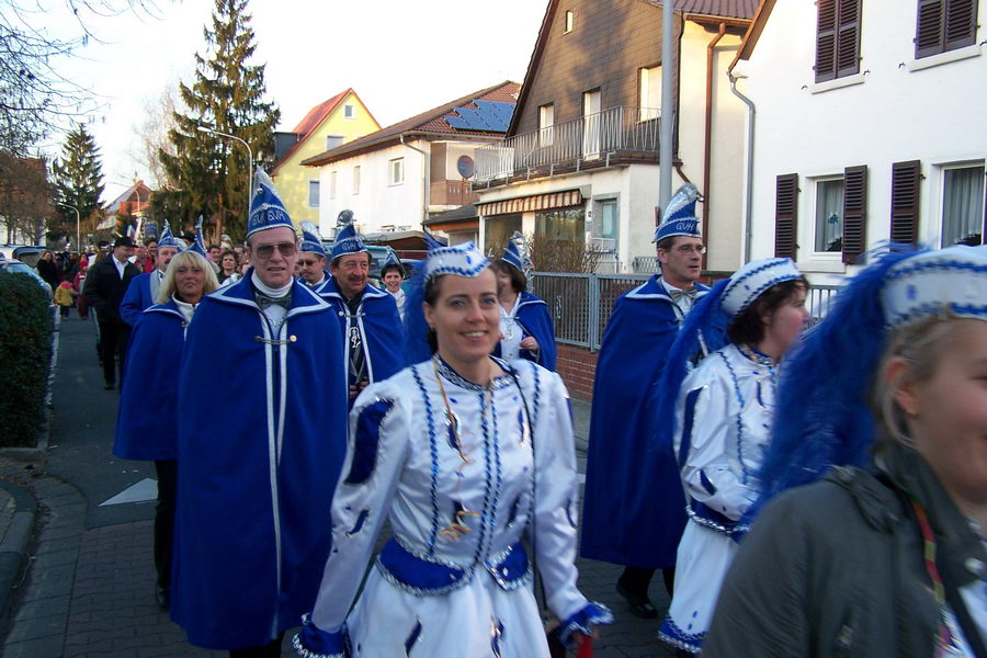
<svg viewBox="0 0 987 658"><path fill-rule="evenodd" d="M535 364L511 370L489 355L498 306L472 242L429 252L406 318L417 363L364 390L350 413L333 552L294 642L303 656L547 658L525 531L560 637L578 644L612 620L576 589L565 387ZM385 518L394 537L348 615Z"/></svg>

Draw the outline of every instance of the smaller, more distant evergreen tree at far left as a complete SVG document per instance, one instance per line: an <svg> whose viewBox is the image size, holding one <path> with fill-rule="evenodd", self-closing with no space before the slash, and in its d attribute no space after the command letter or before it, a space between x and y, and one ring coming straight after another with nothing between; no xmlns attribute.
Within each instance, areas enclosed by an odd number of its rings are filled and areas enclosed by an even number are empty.
<svg viewBox="0 0 987 658"><path fill-rule="evenodd" d="M79 208L79 217L83 222L99 216L100 196L103 194L103 164L100 149L84 124L78 124L66 136L61 152L61 159L55 160L52 166L56 203ZM75 238L76 212L59 205L55 208L56 219L48 227L48 237L53 240L63 236Z"/></svg>

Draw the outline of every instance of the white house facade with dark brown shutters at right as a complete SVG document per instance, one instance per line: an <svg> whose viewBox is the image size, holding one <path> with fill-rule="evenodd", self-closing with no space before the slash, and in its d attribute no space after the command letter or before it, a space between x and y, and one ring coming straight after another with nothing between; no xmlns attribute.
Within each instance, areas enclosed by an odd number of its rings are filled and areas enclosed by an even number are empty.
<svg viewBox="0 0 987 658"><path fill-rule="evenodd" d="M733 67L756 106L751 258L817 283L894 240L982 243L985 0L763 2Z"/></svg>

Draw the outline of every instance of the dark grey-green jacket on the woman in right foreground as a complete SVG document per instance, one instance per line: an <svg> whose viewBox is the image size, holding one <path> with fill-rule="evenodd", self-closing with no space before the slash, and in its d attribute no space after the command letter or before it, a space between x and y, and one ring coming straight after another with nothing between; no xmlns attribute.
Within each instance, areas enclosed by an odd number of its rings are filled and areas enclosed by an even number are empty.
<svg viewBox="0 0 987 658"><path fill-rule="evenodd" d="M918 454L892 444L882 469L835 468L764 508L728 574L704 658L933 656L940 609L908 494L926 508L946 600L979 578L984 546ZM976 626L964 624L971 639ZM987 638L984 638L987 639Z"/></svg>

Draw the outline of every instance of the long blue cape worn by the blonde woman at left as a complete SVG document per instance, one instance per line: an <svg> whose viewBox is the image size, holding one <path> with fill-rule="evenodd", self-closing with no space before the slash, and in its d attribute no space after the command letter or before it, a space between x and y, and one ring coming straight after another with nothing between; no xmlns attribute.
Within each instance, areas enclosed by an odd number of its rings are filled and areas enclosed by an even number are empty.
<svg viewBox="0 0 987 658"><path fill-rule="evenodd" d="M174 460L185 318L171 299L143 316L127 348L113 454L122 460Z"/></svg>

